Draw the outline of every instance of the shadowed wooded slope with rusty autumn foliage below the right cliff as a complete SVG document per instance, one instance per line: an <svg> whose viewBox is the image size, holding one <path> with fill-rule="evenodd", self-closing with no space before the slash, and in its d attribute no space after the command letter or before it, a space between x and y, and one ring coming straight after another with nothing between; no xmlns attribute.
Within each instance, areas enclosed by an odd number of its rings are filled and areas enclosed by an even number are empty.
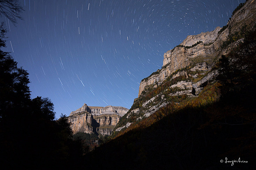
<svg viewBox="0 0 256 170"><path fill-rule="evenodd" d="M118 160L115 167L129 162L125 169L226 169L231 164L219 162L226 157L248 161L234 163L237 169L254 169L255 41L256 32L222 56L219 76L198 97L175 96L179 103L170 99L173 102L89 153L89 162L99 154L102 159L88 168Z"/></svg>

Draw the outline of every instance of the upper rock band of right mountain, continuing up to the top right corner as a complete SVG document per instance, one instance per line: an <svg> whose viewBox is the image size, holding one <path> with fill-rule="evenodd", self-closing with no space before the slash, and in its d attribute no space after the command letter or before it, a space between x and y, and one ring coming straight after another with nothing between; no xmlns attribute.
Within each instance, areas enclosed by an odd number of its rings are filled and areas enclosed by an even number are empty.
<svg viewBox="0 0 256 170"><path fill-rule="evenodd" d="M211 32L189 35L174 49L165 52L162 69L141 81L138 97L146 86L153 84L157 87L176 70L195 64L198 58L200 58L200 61L207 61L203 58L208 58L208 61L211 60L207 63L208 67L211 67L214 64L213 58L228 53L239 42L243 41L242 38L239 39L239 36L236 35L238 32L243 32L244 29L246 31L254 29L256 23L255 3L255 0L248 1L246 5L235 12L231 20L228 21L228 28L225 30L216 27ZM221 33L219 33L220 30ZM227 48L223 48L223 44L231 38L236 42L229 44ZM199 60L196 62L199 62Z"/></svg>

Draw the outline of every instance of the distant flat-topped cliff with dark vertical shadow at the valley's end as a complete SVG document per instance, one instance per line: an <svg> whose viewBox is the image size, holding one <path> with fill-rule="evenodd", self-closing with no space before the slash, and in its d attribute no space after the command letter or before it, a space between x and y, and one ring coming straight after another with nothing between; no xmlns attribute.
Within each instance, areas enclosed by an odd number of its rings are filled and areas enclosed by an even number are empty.
<svg viewBox="0 0 256 170"><path fill-rule="evenodd" d="M95 133L110 135L120 118L128 111L124 107L91 107L84 104L70 113L68 121L73 133Z"/></svg>

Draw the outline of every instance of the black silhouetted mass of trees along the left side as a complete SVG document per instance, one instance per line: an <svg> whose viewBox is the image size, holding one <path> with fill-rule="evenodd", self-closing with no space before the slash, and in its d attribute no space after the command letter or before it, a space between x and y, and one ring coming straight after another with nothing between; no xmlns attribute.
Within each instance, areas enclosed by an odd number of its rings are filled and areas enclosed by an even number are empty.
<svg viewBox="0 0 256 170"><path fill-rule="evenodd" d="M28 72L17 67L0 26L0 169L61 169L82 156L67 117L48 98L30 98ZM21 168L22 167L22 168ZM70 167L71 168L71 167Z"/></svg>

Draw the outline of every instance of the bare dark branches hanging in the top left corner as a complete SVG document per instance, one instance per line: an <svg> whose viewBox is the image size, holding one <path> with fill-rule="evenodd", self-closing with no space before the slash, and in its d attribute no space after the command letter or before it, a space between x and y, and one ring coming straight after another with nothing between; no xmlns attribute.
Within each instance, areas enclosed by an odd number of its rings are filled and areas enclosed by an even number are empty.
<svg viewBox="0 0 256 170"><path fill-rule="evenodd" d="M22 19L21 12L24 11L18 0L0 0L0 16L7 17L14 25L17 18Z"/></svg>

